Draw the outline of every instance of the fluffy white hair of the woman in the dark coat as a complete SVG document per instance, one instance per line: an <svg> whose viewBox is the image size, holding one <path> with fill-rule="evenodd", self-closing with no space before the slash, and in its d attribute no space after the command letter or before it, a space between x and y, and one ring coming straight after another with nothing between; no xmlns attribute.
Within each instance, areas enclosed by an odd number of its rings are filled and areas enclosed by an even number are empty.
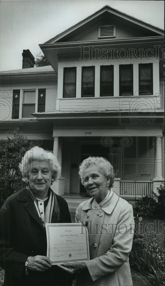
<svg viewBox="0 0 165 286"><path fill-rule="evenodd" d="M61 167L57 161L56 156L52 152L46 151L43 148L33 147L25 153L24 157L22 158L21 163L19 164L24 182L27 182L28 180L30 164L34 160L48 161L50 165L50 170L52 173L52 178L55 181L57 180L60 174Z"/></svg>

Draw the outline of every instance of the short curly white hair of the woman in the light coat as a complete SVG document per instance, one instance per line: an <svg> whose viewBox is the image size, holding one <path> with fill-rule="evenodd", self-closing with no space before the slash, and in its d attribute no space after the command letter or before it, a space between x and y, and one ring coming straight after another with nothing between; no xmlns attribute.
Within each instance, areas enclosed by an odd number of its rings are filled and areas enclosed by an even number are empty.
<svg viewBox="0 0 165 286"><path fill-rule="evenodd" d="M113 166L107 159L103 157L93 157L93 156L90 156L87 159L83 160L79 166L79 176L80 176L82 185L84 185L83 174L84 174L85 169L93 165L95 165L99 169L101 174L103 174L107 179L110 178L109 187L113 187L113 183L114 183Z"/></svg>

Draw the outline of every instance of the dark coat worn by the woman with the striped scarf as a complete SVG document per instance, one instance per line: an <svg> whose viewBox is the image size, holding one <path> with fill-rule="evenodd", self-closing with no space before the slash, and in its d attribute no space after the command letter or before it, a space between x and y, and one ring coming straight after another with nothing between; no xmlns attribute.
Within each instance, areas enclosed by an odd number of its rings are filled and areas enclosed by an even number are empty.
<svg viewBox="0 0 165 286"><path fill-rule="evenodd" d="M56 195L60 223L70 223L68 204ZM26 188L7 198L0 210L0 266L5 269L6 286L72 285L69 274L52 265L44 272L29 271L25 275L28 256L47 252L46 230Z"/></svg>

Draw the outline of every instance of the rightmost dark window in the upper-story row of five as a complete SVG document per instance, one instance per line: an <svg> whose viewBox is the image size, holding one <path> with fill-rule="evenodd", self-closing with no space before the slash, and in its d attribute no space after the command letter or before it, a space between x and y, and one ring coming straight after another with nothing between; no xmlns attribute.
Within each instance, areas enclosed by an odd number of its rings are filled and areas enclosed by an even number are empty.
<svg viewBox="0 0 165 286"><path fill-rule="evenodd" d="M152 63L139 64L139 95L153 94Z"/></svg>

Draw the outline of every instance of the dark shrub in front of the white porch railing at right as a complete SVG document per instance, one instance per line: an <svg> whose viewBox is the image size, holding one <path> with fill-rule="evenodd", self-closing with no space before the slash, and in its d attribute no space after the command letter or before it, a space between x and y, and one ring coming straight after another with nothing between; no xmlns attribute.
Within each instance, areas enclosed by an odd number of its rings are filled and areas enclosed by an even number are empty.
<svg viewBox="0 0 165 286"><path fill-rule="evenodd" d="M164 218L164 184L157 188L159 194L152 192L151 196L144 196L133 206L134 213L158 219Z"/></svg>

